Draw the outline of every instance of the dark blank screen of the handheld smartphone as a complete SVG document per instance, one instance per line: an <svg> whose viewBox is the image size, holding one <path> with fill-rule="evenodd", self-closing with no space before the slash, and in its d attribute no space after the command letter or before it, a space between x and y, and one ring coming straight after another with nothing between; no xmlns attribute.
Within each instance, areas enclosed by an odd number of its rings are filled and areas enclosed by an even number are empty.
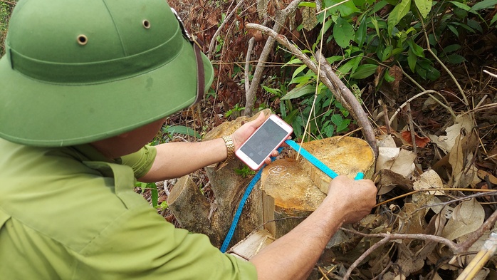
<svg viewBox="0 0 497 280"><path fill-rule="evenodd" d="M268 154L275 149L288 132L268 119L251 138L245 142L240 150L248 155L254 162L263 162Z"/></svg>

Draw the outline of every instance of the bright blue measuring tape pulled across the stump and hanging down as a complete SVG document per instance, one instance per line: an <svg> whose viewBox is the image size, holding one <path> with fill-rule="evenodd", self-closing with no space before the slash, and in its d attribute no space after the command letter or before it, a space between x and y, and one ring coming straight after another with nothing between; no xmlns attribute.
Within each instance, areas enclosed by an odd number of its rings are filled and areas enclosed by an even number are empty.
<svg viewBox="0 0 497 280"><path fill-rule="evenodd" d="M332 179L335 179L335 177L338 176L337 173L335 173L333 170L330 169L330 167L326 166L323 162L318 160L315 156L311 155L310 152L305 150L303 147L300 147L295 141L293 140L286 140L285 141L288 146L290 146L293 150L295 151L300 151L300 155L302 155L306 160L308 160L310 163L312 163L315 167L318 167L319 170L325 172L326 175L330 176ZM278 152L281 152L281 147L278 149ZM273 161L275 158L271 157L271 161ZM238 205L238 209L236 209L235 212L235 217L233 218L233 222L231 222L231 227L229 228L228 234L226 234L226 238L224 239L223 244L221 245L221 252L226 253L226 250L228 249L229 242L231 242L231 238L233 238L233 234L236 229L236 225L238 224L238 221L241 216L241 211L244 209L245 202L249 198L250 193L253 190L253 187L256 185L259 179L261 179L262 175L262 170L264 169L266 165L263 165L261 169L257 172L257 174L252 178L252 180L249 183L249 186L247 186L244 196L241 197L240 203ZM355 180L362 180L364 178L364 173L359 172L355 176Z"/></svg>

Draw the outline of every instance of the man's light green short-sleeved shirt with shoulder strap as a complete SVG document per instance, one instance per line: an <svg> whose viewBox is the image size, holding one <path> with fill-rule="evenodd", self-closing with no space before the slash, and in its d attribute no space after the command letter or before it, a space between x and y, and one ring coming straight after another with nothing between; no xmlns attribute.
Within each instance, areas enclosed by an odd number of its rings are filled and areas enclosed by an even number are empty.
<svg viewBox="0 0 497 280"><path fill-rule="evenodd" d="M1 279L257 279L133 191L155 148L108 162L90 145L0 139Z"/></svg>

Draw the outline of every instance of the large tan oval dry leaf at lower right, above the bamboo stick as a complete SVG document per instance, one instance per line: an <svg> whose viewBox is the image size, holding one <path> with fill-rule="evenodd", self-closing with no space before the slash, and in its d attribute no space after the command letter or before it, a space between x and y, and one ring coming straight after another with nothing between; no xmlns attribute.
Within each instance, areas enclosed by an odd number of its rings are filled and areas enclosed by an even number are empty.
<svg viewBox="0 0 497 280"><path fill-rule="evenodd" d="M462 202L454 208L441 236L449 240L462 237L478 229L483 224L483 219L485 211L476 199Z"/></svg>

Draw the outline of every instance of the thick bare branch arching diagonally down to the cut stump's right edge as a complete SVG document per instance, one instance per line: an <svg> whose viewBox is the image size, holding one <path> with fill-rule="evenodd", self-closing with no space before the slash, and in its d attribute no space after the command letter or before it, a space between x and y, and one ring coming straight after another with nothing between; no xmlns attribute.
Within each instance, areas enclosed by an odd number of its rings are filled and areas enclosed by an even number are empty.
<svg viewBox="0 0 497 280"><path fill-rule="evenodd" d="M311 61L308 56L306 56L299 48L294 46L286 36L276 33L275 31L267 28L266 26L261 26L259 24L247 24L246 28L253 28L258 31L262 31L267 33L271 38L274 38L278 43L288 48L294 56L300 59L303 63L305 63L308 68L314 73L319 73L320 81L323 82L330 90L333 92L333 95L338 99L340 103L351 113L352 117L357 120L357 122L362 126L362 132L365 135L365 138L372 147L375 152L375 156L377 156L377 145L375 140L375 132L372 128L370 121L367 119L367 115L362 107L355 98L354 94L345 86L345 84L340 81L340 78L336 76L335 72L330 66L330 63L326 61L326 59L320 55L320 53L316 53L316 57L321 61L321 71L318 71L318 66L315 62ZM252 85L254 82L252 81Z"/></svg>

